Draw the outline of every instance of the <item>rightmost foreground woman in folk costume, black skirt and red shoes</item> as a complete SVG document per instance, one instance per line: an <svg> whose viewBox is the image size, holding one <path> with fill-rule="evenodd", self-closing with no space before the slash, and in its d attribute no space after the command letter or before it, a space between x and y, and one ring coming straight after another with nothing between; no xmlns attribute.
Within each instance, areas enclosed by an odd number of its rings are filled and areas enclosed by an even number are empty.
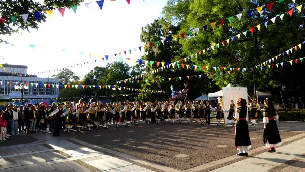
<svg viewBox="0 0 305 172"><path fill-rule="evenodd" d="M265 99L264 105L264 144L269 147L268 152L276 152L276 147L281 145L282 141L275 119L278 114L269 98Z"/></svg>

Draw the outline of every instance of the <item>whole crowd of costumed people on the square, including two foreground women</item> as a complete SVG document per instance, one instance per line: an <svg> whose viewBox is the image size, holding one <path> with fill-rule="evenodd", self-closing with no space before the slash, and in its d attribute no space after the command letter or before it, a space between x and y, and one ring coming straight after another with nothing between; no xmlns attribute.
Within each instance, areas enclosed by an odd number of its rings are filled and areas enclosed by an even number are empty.
<svg viewBox="0 0 305 172"><path fill-rule="evenodd" d="M270 103L271 102L271 103ZM268 99L264 102L264 143L270 146L271 151L281 142L279 131L275 123L276 111L272 101ZM211 112L216 112L217 124L220 125L220 119L224 118L223 113L228 112L227 119L231 125L236 124L235 146L239 150L237 155L248 155L247 151L251 147L251 141L248 133L248 123L246 121L247 111L250 108L251 122L255 125L259 106L254 100L250 105L245 99L238 99L237 106L231 101L228 109L223 109L218 103L212 107L209 101L188 101L186 103L178 101L165 102L139 102L126 101L106 103L102 102L71 102L53 103L51 106L43 104L27 104L18 108L17 105L5 106L5 111L0 110L0 140L6 140L11 135L19 133L36 133L37 131L53 132L53 136L59 136L60 130L65 130L67 134L71 129L80 132L82 129L91 131L105 126L106 129L113 125L120 127L125 125L129 127L132 122L139 125L144 121L147 125L150 123L174 124L176 120L179 123L195 121L196 124L203 124L204 121L210 124ZM269 150L269 151L270 151Z"/></svg>

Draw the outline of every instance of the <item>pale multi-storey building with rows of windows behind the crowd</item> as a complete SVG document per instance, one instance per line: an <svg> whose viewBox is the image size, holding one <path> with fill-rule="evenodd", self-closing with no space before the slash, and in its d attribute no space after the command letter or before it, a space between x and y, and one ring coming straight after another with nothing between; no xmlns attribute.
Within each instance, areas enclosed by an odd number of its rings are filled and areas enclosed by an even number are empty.
<svg viewBox="0 0 305 172"><path fill-rule="evenodd" d="M59 94L59 79L39 78L27 75L27 66L2 64L0 70L0 95L21 102L56 102ZM22 87L23 85L23 87ZM18 103L19 102L19 103Z"/></svg>

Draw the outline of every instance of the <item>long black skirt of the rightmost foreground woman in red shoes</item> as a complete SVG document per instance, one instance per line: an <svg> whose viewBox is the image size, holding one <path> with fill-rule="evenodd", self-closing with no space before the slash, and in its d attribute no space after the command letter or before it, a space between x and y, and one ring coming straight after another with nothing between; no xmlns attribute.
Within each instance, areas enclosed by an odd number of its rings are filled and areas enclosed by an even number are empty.
<svg viewBox="0 0 305 172"><path fill-rule="evenodd" d="M267 140L268 144L278 144L282 141L276 120L269 120L269 123L266 125L266 129L264 130L264 144L267 143Z"/></svg>

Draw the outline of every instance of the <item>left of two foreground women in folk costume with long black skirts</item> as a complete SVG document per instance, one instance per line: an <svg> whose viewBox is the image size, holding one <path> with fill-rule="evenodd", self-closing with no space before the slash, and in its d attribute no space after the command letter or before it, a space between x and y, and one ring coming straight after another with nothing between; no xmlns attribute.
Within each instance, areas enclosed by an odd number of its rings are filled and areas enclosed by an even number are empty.
<svg viewBox="0 0 305 172"><path fill-rule="evenodd" d="M235 113L236 128L235 128L235 146L239 152L236 155L248 156L247 151L251 148L251 141L248 131L247 102L245 99L238 98L237 111Z"/></svg>

